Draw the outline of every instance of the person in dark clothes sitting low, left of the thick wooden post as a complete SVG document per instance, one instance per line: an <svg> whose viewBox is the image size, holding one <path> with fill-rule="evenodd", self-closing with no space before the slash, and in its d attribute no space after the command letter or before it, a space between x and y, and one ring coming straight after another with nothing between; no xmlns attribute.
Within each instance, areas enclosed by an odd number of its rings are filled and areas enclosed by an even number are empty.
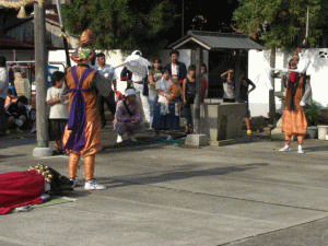
<svg viewBox="0 0 328 246"><path fill-rule="evenodd" d="M20 96L16 103L11 103L7 109L8 129L27 130L30 126L28 119L28 99L25 96Z"/></svg>

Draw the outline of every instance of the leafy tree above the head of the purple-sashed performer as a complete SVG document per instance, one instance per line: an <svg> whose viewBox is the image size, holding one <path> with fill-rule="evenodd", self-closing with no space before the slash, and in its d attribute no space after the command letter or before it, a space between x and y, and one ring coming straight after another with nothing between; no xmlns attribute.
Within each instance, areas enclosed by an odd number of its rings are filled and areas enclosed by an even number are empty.
<svg viewBox="0 0 328 246"><path fill-rule="evenodd" d="M152 55L167 44L165 35L176 19L169 0L74 0L62 8L66 27L96 34L96 48L141 49Z"/></svg>

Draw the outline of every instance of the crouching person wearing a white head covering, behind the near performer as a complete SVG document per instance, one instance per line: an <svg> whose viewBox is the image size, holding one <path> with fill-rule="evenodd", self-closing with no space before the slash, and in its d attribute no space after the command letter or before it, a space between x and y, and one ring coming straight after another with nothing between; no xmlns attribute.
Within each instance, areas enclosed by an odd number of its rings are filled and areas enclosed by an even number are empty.
<svg viewBox="0 0 328 246"><path fill-rule="evenodd" d="M125 98L118 101L115 119L113 121L114 130L117 132L117 143L122 142L124 134L128 134L131 141L136 142L134 133L140 132L144 126L142 122L142 108L137 102L134 89L127 89Z"/></svg>

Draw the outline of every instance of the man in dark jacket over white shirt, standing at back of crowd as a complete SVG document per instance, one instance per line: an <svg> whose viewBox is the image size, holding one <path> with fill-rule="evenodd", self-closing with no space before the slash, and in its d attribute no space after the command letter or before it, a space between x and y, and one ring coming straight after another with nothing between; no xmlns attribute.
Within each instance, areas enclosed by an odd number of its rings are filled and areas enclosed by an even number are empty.
<svg viewBox="0 0 328 246"><path fill-rule="evenodd" d="M165 70L168 70L171 77L178 77L179 81L183 82L187 75L187 68L184 62L179 61L179 51L173 49L169 52L171 62L165 66Z"/></svg>

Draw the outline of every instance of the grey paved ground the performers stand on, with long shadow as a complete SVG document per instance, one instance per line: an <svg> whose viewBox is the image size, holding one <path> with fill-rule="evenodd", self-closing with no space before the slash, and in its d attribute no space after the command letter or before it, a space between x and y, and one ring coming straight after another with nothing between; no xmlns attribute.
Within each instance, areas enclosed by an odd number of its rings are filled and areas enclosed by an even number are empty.
<svg viewBox="0 0 328 246"><path fill-rule="evenodd" d="M75 202L0 218L0 245L328 245L328 142L280 153L279 139L188 149L105 129L96 177ZM0 172L24 171L33 136L0 139ZM67 156L39 160L66 173ZM81 168L83 169L83 168ZM82 172L80 177L82 177Z"/></svg>

